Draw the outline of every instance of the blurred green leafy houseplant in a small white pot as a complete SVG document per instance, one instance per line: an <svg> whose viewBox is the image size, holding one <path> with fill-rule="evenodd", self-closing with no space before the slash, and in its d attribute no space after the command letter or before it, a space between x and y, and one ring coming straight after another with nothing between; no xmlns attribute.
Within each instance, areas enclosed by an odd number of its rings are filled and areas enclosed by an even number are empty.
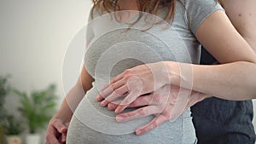
<svg viewBox="0 0 256 144"><path fill-rule="evenodd" d="M36 144L39 140L30 140L30 137L31 139L40 139L39 130L46 127L55 112L55 84L50 84L48 88L43 90L34 90L31 95L18 89L14 91L17 95L20 95L18 110L21 116L25 118L30 133L30 135L27 135L26 142L27 144L30 142Z"/></svg>

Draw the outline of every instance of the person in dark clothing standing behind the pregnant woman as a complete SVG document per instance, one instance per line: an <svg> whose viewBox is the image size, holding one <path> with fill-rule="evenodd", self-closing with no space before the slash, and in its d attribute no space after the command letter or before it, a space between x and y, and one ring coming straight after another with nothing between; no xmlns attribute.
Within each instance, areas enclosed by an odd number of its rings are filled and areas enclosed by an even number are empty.
<svg viewBox="0 0 256 144"><path fill-rule="evenodd" d="M223 6L228 14L230 20L233 25L236 27L236 30L240 32L241 36L251 45L254 51L256 45L256 32L253 31L256 28L256 19L253 15L256 14L256 1L247 0L247 1L230 1L223 0ZM216 60L207 54L206 50L202 50L201 55L201 64L216 64ZM210 73L209 73L210 74ZM245 76L247 78L247 76ZM172 89L169 87L169 89ZM248 89L245 87L245 89ZM172 94L173 95L173 92ZM171 96L170 95L170 96ZM175 94L174 94L175 95ZM201 101L204 95L191 95L189 101L183 102L183 105L187 105L187 107L191 107L197 101ZM152 97L152 96L151 96ZM136 101L132 102L129 107L142 107L147 106L150 103L155 105L160 105L166 97L166 94L160 93L160 95L154 96L154 99L150 98L150 96L140 96ZM227 95L224 99L234 100L227 101L223 99L219 99L218 95L215 97L208 98L205 101L202 101L192 107L192 117L193 122L195 124L196 136L198 138L198 143L201 144L254 144L255 143L255 132L253 129L253 103L252 101L243 101L255 98L255 95L241 95L241 96L230 96ZM153 102L154 101L154 102ZM118 105L114 103L108 104L109 110L115 110ZM125 116L125 119L129 118L129 120L135 118L143 118L148 115L148 112L155 112L150 104L148 107L143 107L141 109L137 109L134 112L127 112L125 114L119 116ZM137 114L137 112L141 111L142 114ZM181 110L178 110L181 112ZM166 112L166 116L172 113L172 116L175 115L173 113L178 112L177 109L168 110ZM149 113L150 114L150 113ZM178 113L181 114L181 113ZM136 117L132 117L137 115ZM172 117L162 117L158 121L153 121L147 125L147 127L143 128L143 133L152 130L154 125L160 125L164 123L166 120L171 119Z"/></svg>

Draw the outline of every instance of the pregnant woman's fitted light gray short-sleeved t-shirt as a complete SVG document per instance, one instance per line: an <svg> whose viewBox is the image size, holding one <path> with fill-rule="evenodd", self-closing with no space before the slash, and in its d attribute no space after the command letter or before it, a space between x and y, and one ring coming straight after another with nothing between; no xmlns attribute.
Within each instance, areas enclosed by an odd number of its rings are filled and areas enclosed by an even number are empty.
<svg viewBox="0 0 256 144"><path fill-rule="evenodd" d="M134 130L148 124L154 116L119 124L115 120L116 114L101 107L95 98L111 78L134 66L162 60L198 64L201 44L196 40L195 32L202 21L216 10L223 9L214 0L177 1L172 26L162 22L150 29L154 16L143 14L131 26L117 22L113 14L100 15L95 11L94 20L87 29L86 38L90 44L84 56L85 68L95 82L74 112L67 143L195 143L190 111L145 135L135 135ZM158 16L163 19L166 13L166 9L160 9ZM132 16L129 23L136 21L137 16L139 14Z"/></svg>

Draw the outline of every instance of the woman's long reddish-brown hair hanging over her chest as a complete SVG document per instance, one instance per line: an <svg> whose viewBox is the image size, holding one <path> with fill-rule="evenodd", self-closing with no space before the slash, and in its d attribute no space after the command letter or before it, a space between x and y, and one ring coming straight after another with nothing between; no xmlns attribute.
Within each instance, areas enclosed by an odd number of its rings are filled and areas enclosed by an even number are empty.
<svg viewBox="0 0 256 144"><path fill-rule="evenodd" d="M181 2L181 0L179 0ZM215 0L218 3L223 4L222 0ZM92 8L91 17L93 17L94 9L100 9L103 12L115 12L120 9L119 7L119 0L92 0L94 3ZM177 0L137 0L138 10L142 12L146 12L149 14L157 15L158 10L161 8L167 8L168 12L166 13L163 20L171 20L175 14ZM182 3L182 2L181 2Z"/></svg>

